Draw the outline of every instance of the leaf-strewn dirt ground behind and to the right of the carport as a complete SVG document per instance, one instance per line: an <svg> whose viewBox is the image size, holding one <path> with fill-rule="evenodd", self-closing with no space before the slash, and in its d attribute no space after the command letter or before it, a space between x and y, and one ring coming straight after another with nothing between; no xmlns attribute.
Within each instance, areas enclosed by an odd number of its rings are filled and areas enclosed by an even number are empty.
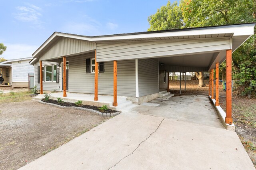
<svg viewBox="0 0 256 170"><path fill-rule="evenodd" d="M198 81L196 80L186 81L186 91L184 91L184 81L182 81L182 94L208 95L209 80L205 80L204 82L206 87L198 87ZM171 93L179 94L180 81L170 81L169 88ZM226 111L226 92L222 90L222 85L219 85L219 95L220 106ZM232 118L236 126L236 133L256 167L256 99L233 95Z"/></svg>

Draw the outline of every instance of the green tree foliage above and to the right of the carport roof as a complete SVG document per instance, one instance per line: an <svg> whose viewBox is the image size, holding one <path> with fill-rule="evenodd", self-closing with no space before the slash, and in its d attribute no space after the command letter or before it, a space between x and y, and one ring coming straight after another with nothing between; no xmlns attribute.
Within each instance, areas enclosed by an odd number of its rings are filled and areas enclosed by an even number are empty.
<svg viewBox="0 0 256 170"><path fill-rule="evenodd" d="M180 0L172 4L168 1L166 6L148 17L148 22L148 31L256 22L256 1ZM251 91L256 97L256 35L232 54L232 66L232 77L236 80L238 93L248 95ZM220 65L220 79L225 80L225 74L224 62Z"/></svg>

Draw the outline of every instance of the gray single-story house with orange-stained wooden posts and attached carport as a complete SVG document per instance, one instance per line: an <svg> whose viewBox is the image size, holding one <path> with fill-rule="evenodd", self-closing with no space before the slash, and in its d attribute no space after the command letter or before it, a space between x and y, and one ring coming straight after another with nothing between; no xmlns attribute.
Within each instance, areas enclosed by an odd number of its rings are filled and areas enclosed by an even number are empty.
<svg viewBox="0 0 256 170"><path fill-rule="evenodd" d="M127 96L140 103L168 89L168 72L213 71L254 34L255 23L80 36L54 32L33 54L35 85L43 91ZM217 66L217 67L216 67ZM227 88L231 72L227 70ZM231 89L231 88L230 88ZM209 93L210 94L210 93ZM212 94L213 96L213 94ZM227 98L231 97L230 91ZM230 107L228 101L227 107ZM229 109L227 109L229 112ZM231 112L231 111L230 111ZM231 113L227 122L232 123Z"/></svg>

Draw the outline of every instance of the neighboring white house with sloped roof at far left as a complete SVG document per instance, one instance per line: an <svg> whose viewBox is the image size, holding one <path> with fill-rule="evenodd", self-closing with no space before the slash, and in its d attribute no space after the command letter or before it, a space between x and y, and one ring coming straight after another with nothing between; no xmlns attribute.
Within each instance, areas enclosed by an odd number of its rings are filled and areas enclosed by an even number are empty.
<svg viewBox="0 0 256 170"><path fill-rule="evenodd" d="M31 59L27 57L1 62L0 73L4 78L2 85L9 83L12 87L28 87L28 73L34 73L34 66L29 64Z"/></svg>

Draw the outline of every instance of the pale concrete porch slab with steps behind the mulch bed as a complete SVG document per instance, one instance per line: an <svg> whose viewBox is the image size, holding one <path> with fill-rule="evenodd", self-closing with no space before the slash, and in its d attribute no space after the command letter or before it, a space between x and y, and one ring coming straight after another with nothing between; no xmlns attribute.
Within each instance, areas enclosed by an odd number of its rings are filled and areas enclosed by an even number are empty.
<svg viewBox="0 0 256 170"><path fill-rule="evenodd" d="M82 101L84 105L92 105L101 107L103 105L107 105L109 109L122 111L127 110L136 105L132 104L131 101L126 100L126 96L117 96L118 106L113 106L113 96L110 95L98 95L98 101L94 101L94 94L84 94L84 93L68 93L67 97L63 97L63 93L51 93L50 99L57 100L60 97L65 102L75 103L78 100ZM33 99L41 100L44 98L44 94L33 97Z"/></svg>

